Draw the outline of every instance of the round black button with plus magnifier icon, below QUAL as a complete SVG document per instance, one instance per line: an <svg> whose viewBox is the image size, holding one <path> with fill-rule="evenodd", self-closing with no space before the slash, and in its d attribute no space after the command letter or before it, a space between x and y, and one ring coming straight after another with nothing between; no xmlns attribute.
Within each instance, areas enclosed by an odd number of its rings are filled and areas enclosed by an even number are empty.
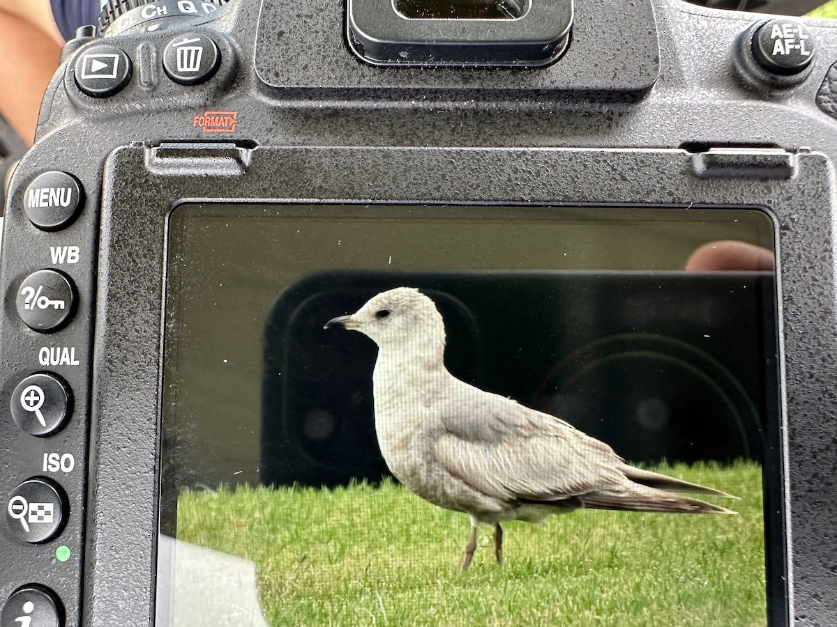
<svg viewBox="0 0 837 627"><path fill-rule="evenodd" d="M69 386L56 375L32 375L12 393L12 418L33 436L51 436L69 416L73 397Z"/></svg>

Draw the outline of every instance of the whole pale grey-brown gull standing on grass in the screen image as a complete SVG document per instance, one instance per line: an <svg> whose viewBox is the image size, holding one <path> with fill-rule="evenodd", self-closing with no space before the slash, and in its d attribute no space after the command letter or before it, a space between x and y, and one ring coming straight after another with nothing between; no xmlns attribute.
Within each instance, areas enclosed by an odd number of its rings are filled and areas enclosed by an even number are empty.
<svg viewBox="0 0 837 627"><path fill-rule="evenodd" d="M583 507L735 513L675 494L734 498L724 492L630 466L568 422L451 375L442 316L416 288L379 293L324 329L332 327L360 331L378 346L375 431L389 470L425 501L469 515L462 570L474 558L480 524L494 528L502 563L508 520L541 523Z"/></svg>

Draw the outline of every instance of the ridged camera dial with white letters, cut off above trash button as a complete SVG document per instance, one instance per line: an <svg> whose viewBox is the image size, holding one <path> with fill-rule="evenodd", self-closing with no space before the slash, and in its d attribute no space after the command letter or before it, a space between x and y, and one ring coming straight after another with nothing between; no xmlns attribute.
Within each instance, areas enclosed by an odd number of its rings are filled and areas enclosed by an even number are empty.
<svg viewBox="0 0 837 627"><path fill-rule="evenodd" d="M229 0L107 0L99 13L99 28L104 37L113 37L129 29L155 31L161 20L190 24L205 23L217 16L218 8ZM179 19L178 19L179 18Z"/></svg>

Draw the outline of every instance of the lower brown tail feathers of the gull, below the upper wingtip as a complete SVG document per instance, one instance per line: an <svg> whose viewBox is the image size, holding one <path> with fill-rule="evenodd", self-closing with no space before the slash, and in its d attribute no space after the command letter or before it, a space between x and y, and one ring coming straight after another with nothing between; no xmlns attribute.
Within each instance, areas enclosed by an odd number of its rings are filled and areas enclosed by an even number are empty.
<svg viewBox="0 0 837 627"><path fill-rule="evenodd" d="M679 497L653 487L626 486L621 490L590 492L579 497L583 507L615 509L624 512L672 512L688 514L735 514L726 507Z"/></svg>

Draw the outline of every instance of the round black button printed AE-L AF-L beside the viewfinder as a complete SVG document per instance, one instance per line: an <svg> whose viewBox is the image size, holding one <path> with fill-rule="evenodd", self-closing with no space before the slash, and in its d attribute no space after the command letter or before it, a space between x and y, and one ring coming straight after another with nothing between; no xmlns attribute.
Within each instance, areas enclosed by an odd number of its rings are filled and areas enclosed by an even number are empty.
<svg viewBox="0 0 837 627"><path fill-rule="evenodd" d="M804 71L814 60L814 36L793 19L765 22L752 38L752 55L763 69L789 76Z"/></svg>

